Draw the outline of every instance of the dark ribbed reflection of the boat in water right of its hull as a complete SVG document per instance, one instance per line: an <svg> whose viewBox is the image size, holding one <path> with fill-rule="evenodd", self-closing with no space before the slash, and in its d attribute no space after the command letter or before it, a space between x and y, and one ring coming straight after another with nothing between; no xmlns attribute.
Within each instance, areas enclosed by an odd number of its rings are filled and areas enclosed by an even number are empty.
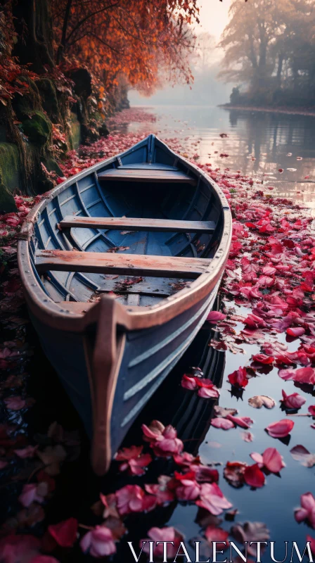
<svg viewBox="0 0 315 563"><path fill-rule="evenodd" d="M202 329L198 333L183 358L143 409L141 417L132 426L123 445L138 445L141 443L141 424L143 422L148 424L151 420L158 419L163 424L172 424L176 428L179 438L184 441L185 451L198 455L200 445L210 428L214 415L214 405L217 404L217 400L200 398L197 393L182 388L181 377L185 372L188 372L189 367L200 367L204 377L211 379L218 388L221 387L225 353L209 346L212 338L213 331L211 329ZM141 481L137 482L139 484L142 484L143 481L156 483L161 474L172 474L174 469L172 460L157 459L148 466L146 476L143 476ZM179 468L177 469L180 471ZM117 486L117 479L115 479L115 489L124 486L127 482L130 483L130 479L126 481L122 477L121 483ZM151 527L167 526L167 522L171 519L176 507L178 507L178 501L174 501L165 507L157 507L153 512L147 514L136 514L136 519L130 519L127 526L129 536L117 545L115 562L131 560L127 540L131 540L133 545L137 546L141 538L147 537L147 532ZM183 517L180 519L182 520Z"/></svg>

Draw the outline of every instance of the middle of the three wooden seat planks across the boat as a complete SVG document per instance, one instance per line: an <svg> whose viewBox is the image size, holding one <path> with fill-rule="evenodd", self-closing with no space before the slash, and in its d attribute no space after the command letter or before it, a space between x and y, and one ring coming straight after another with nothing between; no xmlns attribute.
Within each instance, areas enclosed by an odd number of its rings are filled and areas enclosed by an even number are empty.
<svg viewBox="0 0 315 563"><path fill-rule="evenodd" d="M94 229L127 229L129 231L164 231L212 233L214 221L173 221L172 219L138 219L137 217L82 217L67 215L60 221L61 229L89 227Z"/></svg>

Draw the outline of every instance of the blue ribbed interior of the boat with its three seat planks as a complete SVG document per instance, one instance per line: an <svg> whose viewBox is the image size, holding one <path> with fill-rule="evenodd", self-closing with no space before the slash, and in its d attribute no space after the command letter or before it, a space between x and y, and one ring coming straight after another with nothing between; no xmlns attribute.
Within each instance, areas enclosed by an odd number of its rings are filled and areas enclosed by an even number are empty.
<svg viewBox="0 0 315 563"><path fill-rule="evenodd" d="M129 307L155 305L205 272L221 217L210 182L150 135L56 189L34 224L31 261L56 303L115 293Z"/></svg>

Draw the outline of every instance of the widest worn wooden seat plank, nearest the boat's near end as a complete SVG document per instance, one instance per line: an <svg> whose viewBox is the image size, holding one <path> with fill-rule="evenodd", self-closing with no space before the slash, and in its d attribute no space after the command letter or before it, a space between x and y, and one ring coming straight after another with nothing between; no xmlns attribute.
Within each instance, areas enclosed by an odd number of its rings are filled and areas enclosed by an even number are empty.
<svg viewBox="0 0 315 563"><path fill-rule="evenodd" d="M120 253L45 251L36 253L38 272L89 272L130 276L179 277L195 279L211 260L182 256L155 256Z"/></svg>

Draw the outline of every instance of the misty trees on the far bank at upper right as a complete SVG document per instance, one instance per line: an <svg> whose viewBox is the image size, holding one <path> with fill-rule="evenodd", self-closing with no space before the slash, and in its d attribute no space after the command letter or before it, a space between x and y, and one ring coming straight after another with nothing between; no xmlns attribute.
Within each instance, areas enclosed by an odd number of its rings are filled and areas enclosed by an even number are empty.
<svg viewBox="0 0 315 563"><path fill-rule="evenodd" d="M219 77L233 105L315 106L315 1L233 0Z"/></svg>

